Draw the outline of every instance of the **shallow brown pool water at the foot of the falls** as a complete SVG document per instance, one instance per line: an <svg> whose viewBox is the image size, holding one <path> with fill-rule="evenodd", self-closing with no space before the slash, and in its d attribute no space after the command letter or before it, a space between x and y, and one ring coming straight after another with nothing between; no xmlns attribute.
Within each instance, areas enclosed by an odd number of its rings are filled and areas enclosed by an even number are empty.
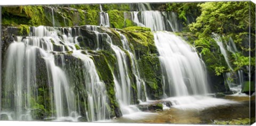
<svg viewBox="0 0 256 126"><path fill-rule="evenodd" d="M116 122L128 123L171 123L171 124L215 124L214 121L232 121L244 120L249 118L249 113L252 111L252 116L255 117L255 96L238 97L226 96L224 99L235 100L239 104L221 105L217 107L206 108L205 110L178 110L170 108L157 112L157 115L149 116L142 120L117 119ZM255 119L255 118L254 118ZM248 119L249 120L249 119ZM247 123L247 122L246 122ZM236 124L236 123L235 123ZM237 124L240 124L237 123Z"/></svg>

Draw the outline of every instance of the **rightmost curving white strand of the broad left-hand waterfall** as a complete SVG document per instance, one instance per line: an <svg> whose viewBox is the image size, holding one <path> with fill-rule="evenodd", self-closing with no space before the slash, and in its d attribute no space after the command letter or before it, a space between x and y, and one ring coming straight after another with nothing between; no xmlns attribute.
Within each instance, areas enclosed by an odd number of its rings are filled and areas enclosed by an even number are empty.
<svg viewBox="0 0 256 126"><path fill-rule="evenodd" d="M81 58L84 62L85 89L89 95L89 120L105 120L108 116L105 83L100 80L94 62L89 55L84 55L80 51L74 51L72 55Z"/></svg>

